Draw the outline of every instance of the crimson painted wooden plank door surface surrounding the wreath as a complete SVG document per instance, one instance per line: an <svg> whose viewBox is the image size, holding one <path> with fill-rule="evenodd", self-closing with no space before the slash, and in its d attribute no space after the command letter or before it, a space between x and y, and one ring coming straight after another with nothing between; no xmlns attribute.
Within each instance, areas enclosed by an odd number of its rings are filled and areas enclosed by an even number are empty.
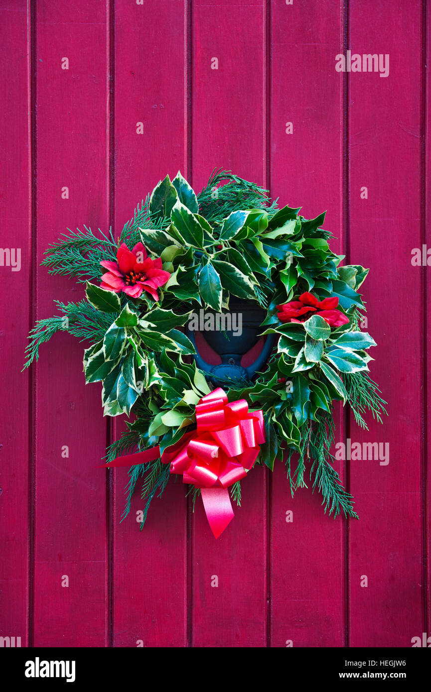
<svg viewBox="0 0 431 692"><path fill-rule="evenodd" d="M0 245L21 247L20 271L0 266L12 295L1 637L408 647L430 632L430 269L411 262L431 246L429 12L425 0L0 0ZM389 54L389 76L337 72L348 49ZM292 500L278 464L250 475L217 542L179 483L139 531L139 493L120 522L127 471L96 468L124 421L103 419L100 385L85 386L82 344L55 336L20 372L28 326L83 295L39 266L46 246L83 224L119 233L166 172L200 190L213 167L308 218L326 210L333 249L370 268L371 374L389 417L361 431L335 410L336 441L389 443L388 464L337 462L359 522L325 516L309 490Z"/></svg>

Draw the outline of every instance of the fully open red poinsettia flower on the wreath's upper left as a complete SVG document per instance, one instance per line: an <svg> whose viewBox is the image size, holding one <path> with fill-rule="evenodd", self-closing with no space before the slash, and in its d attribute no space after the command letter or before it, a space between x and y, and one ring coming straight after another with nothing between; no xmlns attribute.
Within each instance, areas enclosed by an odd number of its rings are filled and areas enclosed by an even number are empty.
<svg viewBox="0 0 431 692"><path fill-rule="evenodd" d="M123 243L117 250L116 259L118 264L110 260L100 262L109 270L102 276L101 288L115 293L124 291L131 298L139 298L142 291L147 291L159 300L157 289L164 286L170 277L170 273L161 268L160 257L151 260L142 243L137 243L132 250Z"/></svg>

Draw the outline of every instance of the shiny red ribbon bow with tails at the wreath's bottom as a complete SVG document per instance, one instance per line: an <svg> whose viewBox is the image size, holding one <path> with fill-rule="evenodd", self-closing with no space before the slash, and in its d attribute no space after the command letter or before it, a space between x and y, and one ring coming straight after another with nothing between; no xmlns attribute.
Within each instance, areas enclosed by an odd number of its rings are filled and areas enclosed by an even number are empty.
<svg viewBox="0 0 431 692"><path fill-rule="evenodd" d="M170 473L181 473L183 483L202 492L202 501L211 531L218 538L234 511L227 488L247 475L265 442L263 412L249 411L247 401L228 403L218 387L196 404L197 429L186 432L160 457L159 446L127 455L106 466L146 464L161 458L170 464Z"/></svg>

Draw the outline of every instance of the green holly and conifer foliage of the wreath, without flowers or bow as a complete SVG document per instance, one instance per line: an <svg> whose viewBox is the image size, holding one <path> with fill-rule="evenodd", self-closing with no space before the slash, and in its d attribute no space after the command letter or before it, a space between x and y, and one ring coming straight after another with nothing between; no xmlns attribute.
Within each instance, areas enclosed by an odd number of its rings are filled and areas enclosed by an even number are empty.
<svg viewBox="0 0 431 692"><path fill-rule="evenodd" d="M250 408L263 410L266 440L258 463L272 469L284 457L292 493L306 486L308 469L325 511L355 517L329 450L333 401L349 403L365 428L367 410L378 421L385 412L368 373L372 358L367 351L376 343L359 327L365 307L358 291L368 269L340 266L343 257L331 251L331 233L322 228L325 215L305 219L299 212L278 208L267 190L229 171L214 170L200 194L178 172L172 181L169 176L159 181L119 237L86 226L69 230L46 250L42 264L51 274L86 282L86 298L56 301L60 316L37 322L24 367L37 361L39 346L57 331L86 340L85 379L101 383L105 415L134 414L125 433L109 446L107 460L156 444L163 453L194 429L196 403L209 392L204 373L187 362L195 351L182 328L191 312L226 311L231 296L254 301L265 309L262 334L274 334L276 346L252 380L223 379L220 385L227 388L229 401L244 398ZM132 250L138 242L170 273L158 300L145 291L130 298L99 285L106 271L100 262L116 263L122 243ZM130 275L127 281L135 278ZM330 327L310 311L304 322L282 323L278 306L304 292L319 301L336 297L337 309L349 322ZM143 525L168 477L169 466L159 459L132 467L123 518L141 480ZM240 504L240 483L230 492ZM200 491L191 493L194 504Z"/></svg>

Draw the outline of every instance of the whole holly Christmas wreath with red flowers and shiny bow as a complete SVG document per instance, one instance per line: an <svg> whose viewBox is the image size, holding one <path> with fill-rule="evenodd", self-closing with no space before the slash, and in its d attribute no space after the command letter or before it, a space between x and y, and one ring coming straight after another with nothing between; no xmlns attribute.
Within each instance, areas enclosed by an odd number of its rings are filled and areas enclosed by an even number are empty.
<svg viewBox="0 0 431 692"><path fill-rule="evenodd" d="M102 383L104 415L130 417L105 465L130 466L123 518L141 483L141 528L179 475L217 538L254 464L276 459L292 494L308 468L325 512L358 518L333 468L332 411L349 403L362 428L367 410L380 422L385 412L369 376L376 343L361 329L368 269L340 266L324 214L299 212L231 172L214 171L198 195L178 173L118 239L68 229L46 250L42 265L85 282L85 299L55 301L60 314L30 331L25 367L56 331L89 343L85 380ZM196 329L221 363L206 362Z"/></svg>

